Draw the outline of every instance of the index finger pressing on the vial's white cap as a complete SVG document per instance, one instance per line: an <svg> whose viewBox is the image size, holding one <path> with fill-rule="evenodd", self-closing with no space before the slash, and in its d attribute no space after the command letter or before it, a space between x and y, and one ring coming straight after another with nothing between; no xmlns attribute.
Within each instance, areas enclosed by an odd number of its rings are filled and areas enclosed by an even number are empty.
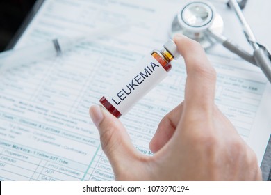
<svg viewBox="0 0 271 195"><path fill-rule="evenodd" d="M198 42L186 36L175 36L174 42L186 63L186 106L206 109L214 101L215 70Z"/></svg>

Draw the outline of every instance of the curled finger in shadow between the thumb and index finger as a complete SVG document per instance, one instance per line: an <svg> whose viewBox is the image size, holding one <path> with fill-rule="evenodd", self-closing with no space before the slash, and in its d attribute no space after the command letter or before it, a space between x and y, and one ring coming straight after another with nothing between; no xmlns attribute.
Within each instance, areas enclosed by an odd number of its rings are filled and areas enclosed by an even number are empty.
<svg viewBox="0 0 271 195"><path fill-rule="evenodd" d="M176 126L179 123L182 111L183 103L179 104L161 120L154 137L149 143L149 148L153 153L160 150L163 146L165 146L165 143L170 140L176 130Z"/></svg>

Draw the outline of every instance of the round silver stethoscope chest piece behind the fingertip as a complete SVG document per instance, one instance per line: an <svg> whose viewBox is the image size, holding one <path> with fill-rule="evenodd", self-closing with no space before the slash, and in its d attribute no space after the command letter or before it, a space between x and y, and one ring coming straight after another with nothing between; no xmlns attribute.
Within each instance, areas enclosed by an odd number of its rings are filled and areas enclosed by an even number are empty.
<svg viewBox="0 0 271 195"><path fill-rule="evenodd" d="M181 33L193 40L197 40L204 49L215 44L216 40L208 36L208 31L222 34L224 23L221 15L208 1L196 1L183 6L174 17L170 36Z"/></svg>

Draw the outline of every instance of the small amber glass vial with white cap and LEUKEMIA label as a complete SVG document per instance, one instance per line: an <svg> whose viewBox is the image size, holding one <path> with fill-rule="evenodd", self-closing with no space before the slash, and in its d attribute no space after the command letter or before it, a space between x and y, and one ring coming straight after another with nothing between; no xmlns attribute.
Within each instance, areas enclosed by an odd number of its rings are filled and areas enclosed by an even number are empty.
<svg viewBox="0 0 271 195"><path fill-rule="evenodd" d="M138 100L162 81L170 71L171 61L179 57L176 44L168 40L161 51L154 50L104 95L101 104L115 117L126 114Z"/></svg>

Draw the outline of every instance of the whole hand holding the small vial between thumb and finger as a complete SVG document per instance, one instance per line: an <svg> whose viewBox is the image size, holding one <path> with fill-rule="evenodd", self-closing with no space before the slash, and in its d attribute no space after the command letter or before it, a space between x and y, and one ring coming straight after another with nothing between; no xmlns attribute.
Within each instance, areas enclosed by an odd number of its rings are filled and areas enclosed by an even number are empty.
<svg viewBox="0 0 271 195"><path fill-rule="evenodd" d="M186 63L185 99L158 125L149 143L154 156L133 147L115 116L90 107L115 179L261 180L256 155L214 103L216 74L204 49L184 36L174 42Z"/></svg>

